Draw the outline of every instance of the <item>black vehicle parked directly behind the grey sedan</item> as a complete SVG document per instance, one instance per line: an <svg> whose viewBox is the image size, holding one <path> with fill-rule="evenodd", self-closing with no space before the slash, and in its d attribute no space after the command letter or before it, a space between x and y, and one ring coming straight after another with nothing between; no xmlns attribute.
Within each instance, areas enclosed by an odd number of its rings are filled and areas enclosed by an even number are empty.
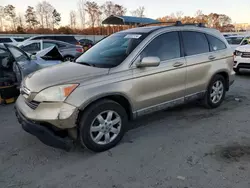
<svg viewBox="0 0 250 188"><path fill-rule="evenodd" d="M59 41L73 44L73 45L80 45L80 43L72 35L38 35L38 36L30 37L27 40L44 40L44 39L59 40Z"/></svg>

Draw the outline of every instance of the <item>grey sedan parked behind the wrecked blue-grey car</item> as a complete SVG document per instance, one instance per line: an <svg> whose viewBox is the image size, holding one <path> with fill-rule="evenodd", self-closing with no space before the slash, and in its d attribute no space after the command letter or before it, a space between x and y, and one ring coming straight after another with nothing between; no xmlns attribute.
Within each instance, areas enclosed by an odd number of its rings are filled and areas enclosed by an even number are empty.
<svg viewBox="0 0 250 188"><path fill-rule="evenodd" d="M36 52L51 46L56 46L59 49L64 61L73 61L83 53L82 46L57 40L28 40L18 44L19 48L31 54L35 54Z"/></svg>

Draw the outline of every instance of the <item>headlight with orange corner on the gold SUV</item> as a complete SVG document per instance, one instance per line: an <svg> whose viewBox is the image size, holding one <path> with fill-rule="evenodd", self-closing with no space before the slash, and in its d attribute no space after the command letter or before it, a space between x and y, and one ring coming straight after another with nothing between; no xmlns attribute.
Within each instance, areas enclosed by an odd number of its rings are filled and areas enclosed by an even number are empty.
<svg viewBox="0 0 250 188"><path fill-rule="evenodd" d="M46 88L40 91L34 98L37 102L61 102L64 101L74 90L78 84L58 85Z"/></svg>

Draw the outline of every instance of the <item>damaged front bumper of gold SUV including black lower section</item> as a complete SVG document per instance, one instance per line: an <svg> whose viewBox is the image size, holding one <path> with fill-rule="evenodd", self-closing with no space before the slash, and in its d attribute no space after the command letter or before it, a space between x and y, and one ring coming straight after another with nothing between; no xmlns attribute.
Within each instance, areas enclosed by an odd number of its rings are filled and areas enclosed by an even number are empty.
<svg viewBox="0 0 250 188"><path fill-rule="evenodd" d="M65 103L41 103L33 110L23 96L19 96L15 113L22 128L44 144L67 151L74 146L75 138L70 132L76 131L76 107Z"/></svg>

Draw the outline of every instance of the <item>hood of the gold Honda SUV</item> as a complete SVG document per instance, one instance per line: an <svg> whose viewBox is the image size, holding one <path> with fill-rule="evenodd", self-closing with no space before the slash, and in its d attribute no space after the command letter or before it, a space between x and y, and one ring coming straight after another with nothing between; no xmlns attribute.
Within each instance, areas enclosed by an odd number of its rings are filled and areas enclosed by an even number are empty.
<svg viewBox="0 0 250 188"><path fill-rule="evenodd" d="M47 67L28 75L24 80L24 85L31 92L39 92L54 85L81 83L96 76L108 74L108 72L109 69L67 62Z"/></svg>

